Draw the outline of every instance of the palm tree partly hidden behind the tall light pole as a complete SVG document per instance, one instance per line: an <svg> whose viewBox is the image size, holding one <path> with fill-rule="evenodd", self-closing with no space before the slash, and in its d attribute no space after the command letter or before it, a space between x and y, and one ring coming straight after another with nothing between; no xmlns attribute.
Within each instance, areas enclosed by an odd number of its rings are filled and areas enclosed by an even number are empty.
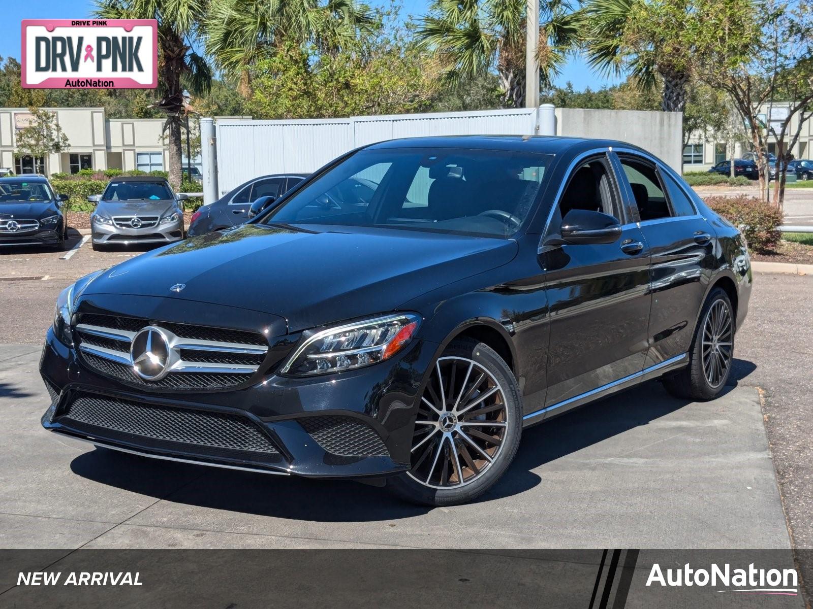
<svg viewBox="0 0 813 609"><path fill-rule="evenodd" d="M525 101L526 0L434 0L419 22L417 37L446 65L450 84L496 71L504 106ZM567 0L542 2L537 58L542 87L580 41L583 13Z"/></svg>

